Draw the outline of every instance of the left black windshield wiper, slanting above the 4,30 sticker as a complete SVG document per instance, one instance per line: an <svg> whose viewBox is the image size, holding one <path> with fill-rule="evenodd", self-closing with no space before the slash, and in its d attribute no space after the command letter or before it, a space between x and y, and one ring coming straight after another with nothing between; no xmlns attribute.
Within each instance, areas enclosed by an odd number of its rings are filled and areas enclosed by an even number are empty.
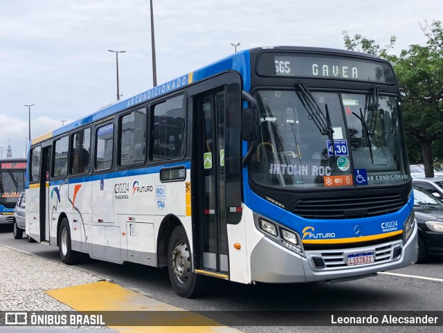
<svg viewBox="0 0 443 333"><path fill-rule="evenodd" d="M328 135L329 139L332 141L332 145L334 147L334 138L333 133L334 129L332 129L331 126L331 120L329 118L329 110L327 109L327 105L325 105L326 109L326 116L323 114L323 111L321 111L320 107L318 106L316 100L314 99L314 96L312 96L311 91L305 86L305 83L302 82L302 80L299 80L296 83L296 88L298 90L296 91L298 98L300 98L300 101L302 102L303 107L305 107L308 118L314 121L314 124L320 131L322 135ZM335 155L334 149L332 152Z"/></svg>

